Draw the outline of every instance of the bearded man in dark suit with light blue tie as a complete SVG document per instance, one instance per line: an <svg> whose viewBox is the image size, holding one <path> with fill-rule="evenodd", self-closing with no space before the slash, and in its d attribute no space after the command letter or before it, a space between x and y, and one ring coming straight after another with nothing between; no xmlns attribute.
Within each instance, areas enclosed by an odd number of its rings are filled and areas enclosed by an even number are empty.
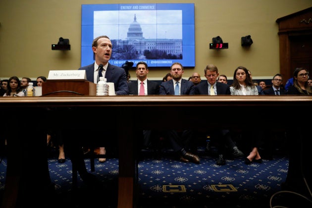
<svg viewBox="0 0 312 208"><path fill-rule="evenodd" d="M184 73L182 64L175 62L170 69L172 80L160 84L159 95L194 95L195 86L193 82L182 79L182 74ZM167 133L173 150L180 155L180 161L200 163L199 156L185 150L193 138L193 131L184 130L182 136L175 130L169 130Z"/></svg>

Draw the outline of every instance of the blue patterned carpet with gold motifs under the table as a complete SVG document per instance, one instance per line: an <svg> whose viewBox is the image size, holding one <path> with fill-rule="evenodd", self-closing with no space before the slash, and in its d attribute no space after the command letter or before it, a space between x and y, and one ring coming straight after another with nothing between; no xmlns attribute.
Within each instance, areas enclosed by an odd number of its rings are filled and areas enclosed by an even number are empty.
<svg viewBox="0 0 312 208"><path fill-rule="evenodd" d="M95 174L101 185L90 188L78 175L78 190L72 190L71 162L58 163L57 154L48 158L55 196L51 207L116 207L118 159L95 161ZM244 158L215 164L215 157L199 151L201 164L177 161L172 155L142 158L138 163L138 208L270 208L271 196L281 191L288 170L288 158L246 165ZM89 172L90 160L85 160ZM0 191L4 189L5 158L0 163ZM99 188L100 187L100 188ZM275 205L276 206L276 205Z"/></svg>

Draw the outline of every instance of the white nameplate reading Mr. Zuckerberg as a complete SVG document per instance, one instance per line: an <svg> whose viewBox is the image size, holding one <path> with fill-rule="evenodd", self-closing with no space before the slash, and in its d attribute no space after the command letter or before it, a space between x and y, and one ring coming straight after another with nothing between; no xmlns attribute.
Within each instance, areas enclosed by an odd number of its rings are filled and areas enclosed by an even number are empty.
<svg viewBox="0 0 312 208"><path fill-rule="evenodd" d="M48 79L84 79L86 70L50 70Z"/></svg>

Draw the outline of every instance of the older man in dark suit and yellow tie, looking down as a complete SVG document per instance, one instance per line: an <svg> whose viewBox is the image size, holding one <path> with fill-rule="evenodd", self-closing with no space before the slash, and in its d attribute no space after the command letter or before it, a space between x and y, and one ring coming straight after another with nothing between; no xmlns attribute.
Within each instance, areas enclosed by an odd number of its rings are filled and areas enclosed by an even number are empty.
<svg viewBox="0 0 312 208"><path fill-rule="evenodd" d="M196 95L231 95L230 86L228 84L217 82L217 77L219 76L218 68L213 64L208 64L205 68L205 77L207 82L202 82L198 84L195 88ZM216 161L217 165L224 165L225 159L223 155L225 153L225 147L231 150L231 154L234 157L244 156L244 154L237 148L233 140L231 139L230 132L227 129L217 129L210 131L212 135L218 138L218 159Z"/></svg>

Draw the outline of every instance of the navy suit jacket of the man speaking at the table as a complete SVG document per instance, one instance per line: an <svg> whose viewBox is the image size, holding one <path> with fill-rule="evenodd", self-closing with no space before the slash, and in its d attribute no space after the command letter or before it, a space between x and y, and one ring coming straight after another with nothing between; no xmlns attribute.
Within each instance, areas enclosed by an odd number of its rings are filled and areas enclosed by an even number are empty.
<svg viewBox="0 0 312 208"><path fill-rule="evenodd" d="M94 83L94 63L80 67L78 70L86 70L87 80ZM113 82L116 95L129 95L127 75L123 68L108 63L105 78L107 82Z"/></svg>

